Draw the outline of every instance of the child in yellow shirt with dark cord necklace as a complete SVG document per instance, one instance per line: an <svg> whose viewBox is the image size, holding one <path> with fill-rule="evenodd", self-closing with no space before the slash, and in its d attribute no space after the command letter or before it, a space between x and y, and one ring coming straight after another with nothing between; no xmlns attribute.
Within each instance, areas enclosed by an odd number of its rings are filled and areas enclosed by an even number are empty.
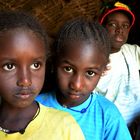
<svg viewBox="0 0 140 140"><path fill-rule="evenodd" d="M0 140L81 140L67 113L34 101L49 53L46 34L32 17L0 12Z"/></svg>

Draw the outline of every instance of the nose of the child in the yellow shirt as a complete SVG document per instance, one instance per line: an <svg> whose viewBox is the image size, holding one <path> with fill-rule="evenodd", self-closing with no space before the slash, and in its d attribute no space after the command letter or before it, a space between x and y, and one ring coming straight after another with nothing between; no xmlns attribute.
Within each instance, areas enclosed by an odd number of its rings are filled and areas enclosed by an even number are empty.
<svg viewBox="0 0 140 140"><path fill-rule="evenodd" d="M29 87L32 85L31 73L27 68L23 68L19 71L17 85L21 87Z"/></svg>

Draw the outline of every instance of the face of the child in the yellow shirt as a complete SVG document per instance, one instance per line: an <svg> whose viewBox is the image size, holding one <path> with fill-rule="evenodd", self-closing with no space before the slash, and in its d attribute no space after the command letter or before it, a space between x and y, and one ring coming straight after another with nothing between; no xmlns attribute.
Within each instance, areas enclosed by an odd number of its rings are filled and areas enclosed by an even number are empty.
<svg viewBox="0 0 140 140"><path fill-rule="evenodd" d="M0 96L14 107L30 105L40 92L45 75L44 42L27 30L0 34Z"/></svg>

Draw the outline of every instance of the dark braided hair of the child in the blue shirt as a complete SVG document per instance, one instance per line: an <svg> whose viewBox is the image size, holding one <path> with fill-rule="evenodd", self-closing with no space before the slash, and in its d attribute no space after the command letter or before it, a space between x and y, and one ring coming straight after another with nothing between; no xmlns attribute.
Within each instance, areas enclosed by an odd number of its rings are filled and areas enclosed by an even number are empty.
<svg viewBox="0 0 140 140"><path fill-rule="evenodd" d="M106 63L109 61L110 39L106 29L97 22L86 19L75 19L64 24L58 32L51 50L51 56L48 61L46 82L44 90L50 91L57 88L55 64L60 58L61 51L69 41L87 41L94 43L93 47L99 50L106 57Z"/></svg>

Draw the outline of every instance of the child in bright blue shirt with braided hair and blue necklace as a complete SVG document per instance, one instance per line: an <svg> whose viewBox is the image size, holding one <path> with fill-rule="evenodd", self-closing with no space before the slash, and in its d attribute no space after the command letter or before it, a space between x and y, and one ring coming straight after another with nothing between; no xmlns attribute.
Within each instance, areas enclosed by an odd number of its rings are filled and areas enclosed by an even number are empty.
<svg viewBox="0 0 140 140"><path fill-rule="evenodd" d="M101 25L85 20L66 23L49 62L52 68L47 75L54 79L47 77L48 93L36 98L46 106L71 113L86 140L131 139L115 105L93 91L109 61L109 52L110 41Z"/></svg>

